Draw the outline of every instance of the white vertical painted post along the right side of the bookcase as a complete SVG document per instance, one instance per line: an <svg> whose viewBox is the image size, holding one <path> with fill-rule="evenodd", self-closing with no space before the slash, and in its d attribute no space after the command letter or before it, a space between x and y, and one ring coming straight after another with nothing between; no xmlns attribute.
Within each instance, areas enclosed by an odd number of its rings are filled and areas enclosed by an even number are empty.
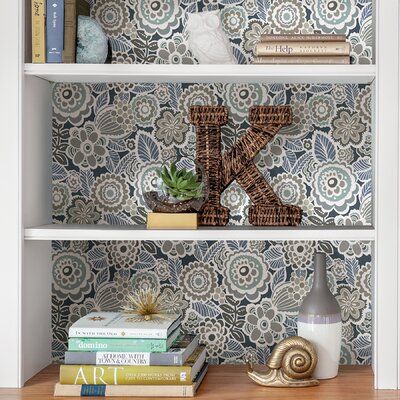
<svg viewBox="0 0 400 400"><path fill-rule="evenodd" d="M399 0L376 3L376 246L374 370L377 389L398 382Z"/></svg>

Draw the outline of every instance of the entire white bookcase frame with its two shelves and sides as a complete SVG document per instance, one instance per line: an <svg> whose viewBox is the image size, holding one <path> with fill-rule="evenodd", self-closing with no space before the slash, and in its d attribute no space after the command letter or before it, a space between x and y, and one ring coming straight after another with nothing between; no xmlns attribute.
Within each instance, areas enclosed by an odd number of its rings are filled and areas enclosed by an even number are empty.
<svg viewBox="0 0 400 400"><path fill-rule="evenodd" d="M25 3L6 1L0 24L3 211L0 230L0 387L19 387L50 363L51 240L371 240L375 387L400 385L399 1L375 3L377 65L33 65L25 63ZM28 28L27 28L28 29ZM51 222L50 82L372 83L374 228L61 226Z"/></svg>

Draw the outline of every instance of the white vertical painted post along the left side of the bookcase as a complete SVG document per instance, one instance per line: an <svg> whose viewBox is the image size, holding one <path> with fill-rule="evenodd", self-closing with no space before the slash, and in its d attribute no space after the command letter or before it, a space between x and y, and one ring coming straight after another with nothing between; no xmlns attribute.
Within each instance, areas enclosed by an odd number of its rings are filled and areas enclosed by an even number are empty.
<svg viewBox="0 0 400 400"><path fill-rule="evenodd" d="M1 137L0 170L2 171L2 210L0 229L0 369L1 387L21 385L20 351L20 281L21 281L21 226L20 207L20 102L21 77L21 10L19 1L1 4L0 24L0 96Z"/></svg>

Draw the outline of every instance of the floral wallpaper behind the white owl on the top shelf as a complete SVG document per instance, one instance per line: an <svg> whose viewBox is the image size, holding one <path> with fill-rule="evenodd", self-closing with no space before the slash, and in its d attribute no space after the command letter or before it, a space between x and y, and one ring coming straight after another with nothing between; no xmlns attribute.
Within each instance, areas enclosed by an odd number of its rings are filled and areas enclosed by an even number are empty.
<svg viewBox="0 0 400 400"><path fill-rule="evenodd" d="M193 64L189 13L220 9L222 28L238 63L248 64L262 34L338 33L351 43L351 61L373 60L372 0L88 0L110 38L114 63Z"/></svg>

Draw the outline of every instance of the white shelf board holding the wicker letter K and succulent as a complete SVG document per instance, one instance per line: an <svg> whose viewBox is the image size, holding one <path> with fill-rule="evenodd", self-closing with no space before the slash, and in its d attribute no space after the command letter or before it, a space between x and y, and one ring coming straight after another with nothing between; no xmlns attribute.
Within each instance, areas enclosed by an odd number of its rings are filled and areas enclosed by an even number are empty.
<svg viewBox="0 0 400 400"><path fill-rule="evenodd" d="M198 230L147 230L145 226L42 225L25 229L25 240L375 240L372 227L229 226Z"/></svg>

